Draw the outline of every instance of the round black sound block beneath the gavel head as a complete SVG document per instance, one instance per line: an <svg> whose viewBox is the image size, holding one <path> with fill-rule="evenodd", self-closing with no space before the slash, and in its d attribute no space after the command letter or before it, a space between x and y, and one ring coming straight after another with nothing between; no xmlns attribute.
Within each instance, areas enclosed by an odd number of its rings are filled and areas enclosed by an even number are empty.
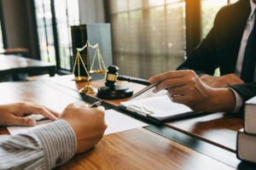
<svg viewBox="0 0 256 170"><path fill-rule="evenodd" d="M125 86L115 86L114 88L105 86L98 89L96 97L100 99L123 99L131 97L132 94L132 89Z"/></svg>

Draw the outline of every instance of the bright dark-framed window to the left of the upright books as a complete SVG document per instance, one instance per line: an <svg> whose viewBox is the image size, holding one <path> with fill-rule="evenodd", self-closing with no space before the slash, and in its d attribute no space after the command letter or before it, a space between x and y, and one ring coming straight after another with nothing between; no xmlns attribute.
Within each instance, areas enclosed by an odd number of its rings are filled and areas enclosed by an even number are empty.
<svg viewBox="0 0 256 170"><path fill-rule="evenodd" d="M70 26L79 25L78 0L35 0L41 59L71 70Z"/></svg>

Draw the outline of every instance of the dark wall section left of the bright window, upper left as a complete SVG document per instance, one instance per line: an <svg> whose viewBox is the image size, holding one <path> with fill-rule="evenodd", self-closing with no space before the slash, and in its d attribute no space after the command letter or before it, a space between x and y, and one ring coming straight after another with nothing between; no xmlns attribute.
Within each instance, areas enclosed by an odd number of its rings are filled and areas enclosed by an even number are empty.
<svg viewBox="0 0 256 170"><path fill-rule="evenodd" d="M28 48L38 59L38 42L32 0L2 0L6 48Z"/></svg>

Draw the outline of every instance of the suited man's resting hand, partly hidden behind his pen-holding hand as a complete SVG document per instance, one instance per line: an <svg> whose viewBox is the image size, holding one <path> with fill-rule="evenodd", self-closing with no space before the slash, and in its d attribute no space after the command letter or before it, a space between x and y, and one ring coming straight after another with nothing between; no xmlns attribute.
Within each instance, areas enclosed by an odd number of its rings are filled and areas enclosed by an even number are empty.
<svg viewBox="0 0 256 170"><path fill-rule="evenodd" d="M230 85L244 83L236 74L227 74L222 77L212 77L209 75L201 75L201 81L205 82L211 88L225 88Z"/></svg>

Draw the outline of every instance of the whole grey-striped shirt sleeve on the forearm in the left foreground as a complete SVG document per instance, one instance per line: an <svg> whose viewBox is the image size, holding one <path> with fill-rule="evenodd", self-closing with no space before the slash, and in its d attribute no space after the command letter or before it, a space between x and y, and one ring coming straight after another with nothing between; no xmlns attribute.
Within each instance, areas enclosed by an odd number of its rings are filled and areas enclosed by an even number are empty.
<svg viewBox="0 0 256 170"><path fill-rule="evenodd" d="M76 138L64 120L49 123L27 134L0 137L0 169L51 169L75 153Z"/></svg>

